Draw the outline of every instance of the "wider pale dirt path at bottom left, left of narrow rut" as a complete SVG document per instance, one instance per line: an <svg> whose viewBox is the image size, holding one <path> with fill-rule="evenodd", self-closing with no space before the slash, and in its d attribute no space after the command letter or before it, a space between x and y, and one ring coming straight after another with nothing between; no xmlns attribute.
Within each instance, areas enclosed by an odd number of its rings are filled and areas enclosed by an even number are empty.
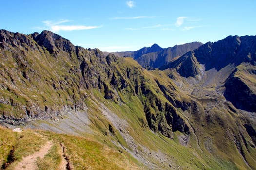
<svg viewBox="0 0 256 170"><path fill-rule="evenodd" d="M42 148L38 152L24 157L23 160L15 166L14 170L36 170L37 166L35 162L37 160L37 157L42 159L48 153L49 149L52 146L53 143L51 141L47 141L46 144L42 146Z"/></svg>

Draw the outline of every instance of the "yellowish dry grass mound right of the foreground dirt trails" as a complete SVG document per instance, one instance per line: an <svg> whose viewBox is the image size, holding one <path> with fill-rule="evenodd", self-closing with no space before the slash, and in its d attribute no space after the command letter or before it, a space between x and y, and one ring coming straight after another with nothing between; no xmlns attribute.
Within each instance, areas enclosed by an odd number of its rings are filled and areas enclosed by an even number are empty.
<svg viewBox="0 0 256 170"><path fill-rule="evenodd" d="M140 169L125 154L89 138L53 134L50 132L43 132L43 134L64 143L66 154L77 170Z"/></svg>

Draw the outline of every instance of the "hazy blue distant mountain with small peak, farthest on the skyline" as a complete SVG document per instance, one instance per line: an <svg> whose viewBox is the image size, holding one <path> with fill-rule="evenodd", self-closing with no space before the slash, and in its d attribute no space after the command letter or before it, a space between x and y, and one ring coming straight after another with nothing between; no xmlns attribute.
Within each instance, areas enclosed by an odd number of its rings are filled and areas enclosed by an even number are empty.
<svg viewBox="0 0 256 170"><path fill-rule="evenodd" d="M119 57L132 57L145 68L159 68L170 62L173 58L197 49L201 45L201 42L191 42L183 45L175 45L174 47L161 48L157 44L153 44L151 47L143 47L137 51L115 52L114 54Z"/></svg>

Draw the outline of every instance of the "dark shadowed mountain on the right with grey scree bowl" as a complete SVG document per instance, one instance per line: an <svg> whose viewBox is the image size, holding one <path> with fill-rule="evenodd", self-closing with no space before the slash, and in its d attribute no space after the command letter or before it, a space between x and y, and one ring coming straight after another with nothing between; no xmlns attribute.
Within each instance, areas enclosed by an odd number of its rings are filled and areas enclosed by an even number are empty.
<svg viewBox="0 0 256 170"><path fill-rule="evenodd" d="M159 69L175 70L186 78L199 76L204 84L221 82L224 96L236 108L256 112L256 36L208 42Z"/></svg>

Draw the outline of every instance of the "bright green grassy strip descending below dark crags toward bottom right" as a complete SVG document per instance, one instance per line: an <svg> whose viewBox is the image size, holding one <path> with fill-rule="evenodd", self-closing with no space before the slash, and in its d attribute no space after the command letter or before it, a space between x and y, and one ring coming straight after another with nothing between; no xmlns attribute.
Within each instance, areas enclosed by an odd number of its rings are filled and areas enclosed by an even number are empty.
<svg viewBox="0 0 256 170"><path fill-rule="evenodd" d="M236 165L230 162L230 159L222 159L222 156L216 157L211 155L206 149L200 150L197 144L196 136L191 136L191 141L188 147L182 146L179 143L178 137L182 135L180 132L174 133L174 139L169 139L161 134L152 133L148 128L143 128L142 123L138 121L141 115L141 110L143 109L142 103L138 98L133 97L125 105L119 105L115 102L110 102L105 100L100 93L95 92L94 95L101 99L100 102L107 103L108 107L117 113L120 117L125 118L131 129L129 129L129 134L138 143L142 144L144 147L150 148L151 151L159 151L169 157L169 163L174 167L182 167L184 169L237 169ZM92 106L92 105L91 105ZM100 113L99 113L100 114ZM94 115L98 117L97 115ZM107 120L105 120L107 122ZM106 128L106 127L105 127ZM118 129L115 129L118 132ZM120 136L116 136L119 138ZM118 141L123 141L116 139ZM123 144L126 146L127 144ZM150 160L150 157L149 157ZM151 160L158 164L159 167L167 168L168 164L162 164L160 160ZM240 162L243 164L243 162ZM204 164L204 166L203 166ZM166 166L167 165L167 166Z"/></svg>

